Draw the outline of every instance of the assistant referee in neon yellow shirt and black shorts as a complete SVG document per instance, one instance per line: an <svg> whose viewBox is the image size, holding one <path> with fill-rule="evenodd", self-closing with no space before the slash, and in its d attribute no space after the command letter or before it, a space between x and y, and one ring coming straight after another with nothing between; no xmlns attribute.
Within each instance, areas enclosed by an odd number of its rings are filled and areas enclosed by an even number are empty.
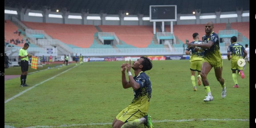
<svg viewBox="0 0 256 128"><path fill-rule="evenodd" d="M20 49L19 51L19 58L21 59L20 61L20 66L21 66L21 76L20 76L20 86L21 87L26 87L28 86L26 84L26 79L27 79L27 74L28 74L28 57L31 55L28 54L27 49L29 47L28 43L24 44L24 47Z"/></svg>

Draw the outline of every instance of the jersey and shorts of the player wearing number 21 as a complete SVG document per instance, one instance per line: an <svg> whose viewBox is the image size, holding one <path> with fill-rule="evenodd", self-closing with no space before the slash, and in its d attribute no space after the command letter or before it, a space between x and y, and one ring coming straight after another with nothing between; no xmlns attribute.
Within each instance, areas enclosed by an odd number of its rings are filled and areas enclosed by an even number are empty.
<svg viewBox="0 0 256 128"><path fill-rule="evenodd" d="M243 70L243 67L238 66L237 61L238 59L243 59L243 51L244 47L241 44L238 44L237 42L234 42L230 46L228 46L228 52L231 52L232 58L231 58L231 69L233 70Z"/></svg>

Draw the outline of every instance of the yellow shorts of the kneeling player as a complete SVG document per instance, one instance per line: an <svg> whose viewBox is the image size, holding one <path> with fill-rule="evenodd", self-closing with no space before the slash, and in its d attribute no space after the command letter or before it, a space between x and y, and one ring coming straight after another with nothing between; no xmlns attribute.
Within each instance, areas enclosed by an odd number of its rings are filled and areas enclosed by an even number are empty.
<svg viewBox="0 0 256 128"><path fill-rule="evenodd" d="M143 116L145 116L147 113L141 112L139 109L134 109L134 108L125 108L122 110L117 116L116 119L120 120L124 123L128 121L132 121L135 119L139 119Z"/></svg>

